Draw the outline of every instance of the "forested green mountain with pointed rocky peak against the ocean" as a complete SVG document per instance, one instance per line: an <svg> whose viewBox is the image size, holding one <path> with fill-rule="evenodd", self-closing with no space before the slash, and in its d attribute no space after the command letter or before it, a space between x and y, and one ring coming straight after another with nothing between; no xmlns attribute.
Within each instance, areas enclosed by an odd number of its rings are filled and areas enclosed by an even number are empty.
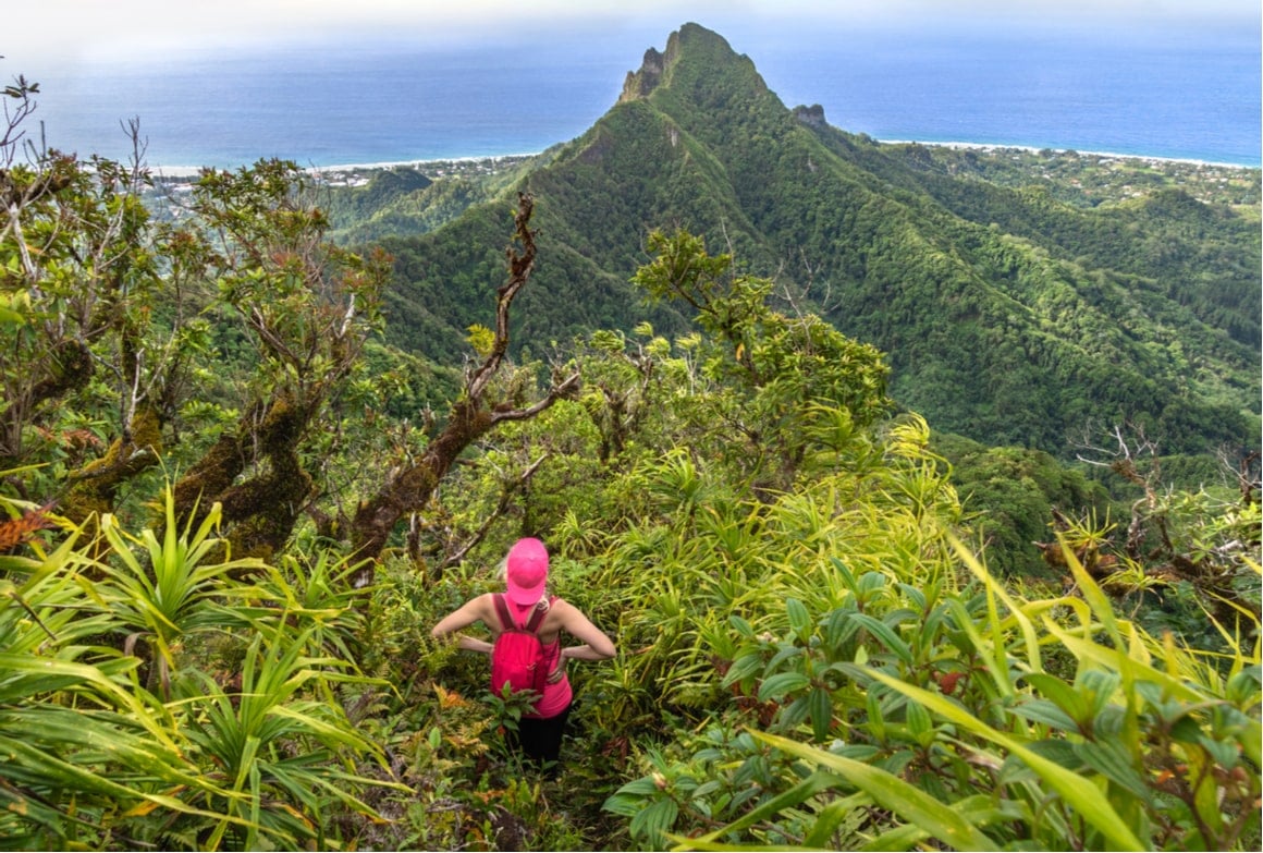
<svg viewBox="0 0 1263 853"><path fill-rule="evenodd" d="M643 320L686 330L629 283L645 235L685 227L883 350L892 397L936 430L1053 454L1089 425L1123 422L1168 452L1257 446L1257 193L1233 206L1172 186L1071 203L1036 179L989 179L988 158L882 144L818 106L787 109L748 57L686 24L591 129L498 195L467 195L426 233L424 214L408 214L424 209L418 195L384 196L373 215L393 224L388 334L434 359L464 351L465 330L488 322L506 196L522 190L541 255L515 306L518 348Z"/></svg>

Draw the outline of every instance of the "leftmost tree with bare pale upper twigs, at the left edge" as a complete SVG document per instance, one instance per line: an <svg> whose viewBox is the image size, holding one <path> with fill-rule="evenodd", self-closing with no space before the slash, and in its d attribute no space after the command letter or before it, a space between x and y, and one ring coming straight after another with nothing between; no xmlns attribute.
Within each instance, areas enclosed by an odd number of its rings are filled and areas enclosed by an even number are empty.
<svg viewBox="0 0 1263 853"><path fill-rule="evenodd" d="M139 197L138 125L128 166L37 149L21 129L34 92L21 77L4 90L16 106L0 138L0 470L23 469L19 494L58 490L62 511L85 518L157 464L183 341L154 311L164 249ZM104 423L115 439L96 455Z"/></svg>

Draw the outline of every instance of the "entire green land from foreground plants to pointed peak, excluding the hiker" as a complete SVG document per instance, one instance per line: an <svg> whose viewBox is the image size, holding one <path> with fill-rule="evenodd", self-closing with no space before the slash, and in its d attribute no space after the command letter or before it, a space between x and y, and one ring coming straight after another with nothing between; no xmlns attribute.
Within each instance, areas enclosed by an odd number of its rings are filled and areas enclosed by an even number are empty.
<svg viewBox="0 0 1263 853"><path fill-rule="evenodd" d="M1259 848L1258 169L878 143L695 24L452 174L3 95L4 847ZM523 536L619 652L556 776L431 637Z"/></svg>

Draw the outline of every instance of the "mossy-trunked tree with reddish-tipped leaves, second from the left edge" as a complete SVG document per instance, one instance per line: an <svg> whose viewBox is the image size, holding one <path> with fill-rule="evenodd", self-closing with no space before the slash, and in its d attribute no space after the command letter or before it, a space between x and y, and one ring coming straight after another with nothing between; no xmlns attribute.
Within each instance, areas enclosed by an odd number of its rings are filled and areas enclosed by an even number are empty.
<svg viewBox="0 0 1263 853"><path fill-rule="evenodd" d="M293 163L205 171L192 211L202 230L179 259L217 284L218 316L249 341L253 375L236 427L181 478L176 500L182 517L222 504L235 545L268 556L320 494L302 452L380 326L389 260L325 239L328 221Z"/></svg>

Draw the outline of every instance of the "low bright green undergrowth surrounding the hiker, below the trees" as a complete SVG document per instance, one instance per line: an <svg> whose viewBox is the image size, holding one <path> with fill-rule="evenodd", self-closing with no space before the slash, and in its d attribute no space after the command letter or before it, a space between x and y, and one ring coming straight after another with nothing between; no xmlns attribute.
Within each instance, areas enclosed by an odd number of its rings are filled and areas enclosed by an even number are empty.
<svg viewBox="0 0 1263 853"><path fill-rule="evenodd" d="M216 559L213 513L29 542L3 559L6 845L1253 849L1257 620L1149 634L1072 554L1071 590L1002 584L925 439L763 502L677 455L629 475L623 529L568 514L554 589L620 655L573 674L556 780L428 637L488 570L356 591L318 547Z"/></svg>

